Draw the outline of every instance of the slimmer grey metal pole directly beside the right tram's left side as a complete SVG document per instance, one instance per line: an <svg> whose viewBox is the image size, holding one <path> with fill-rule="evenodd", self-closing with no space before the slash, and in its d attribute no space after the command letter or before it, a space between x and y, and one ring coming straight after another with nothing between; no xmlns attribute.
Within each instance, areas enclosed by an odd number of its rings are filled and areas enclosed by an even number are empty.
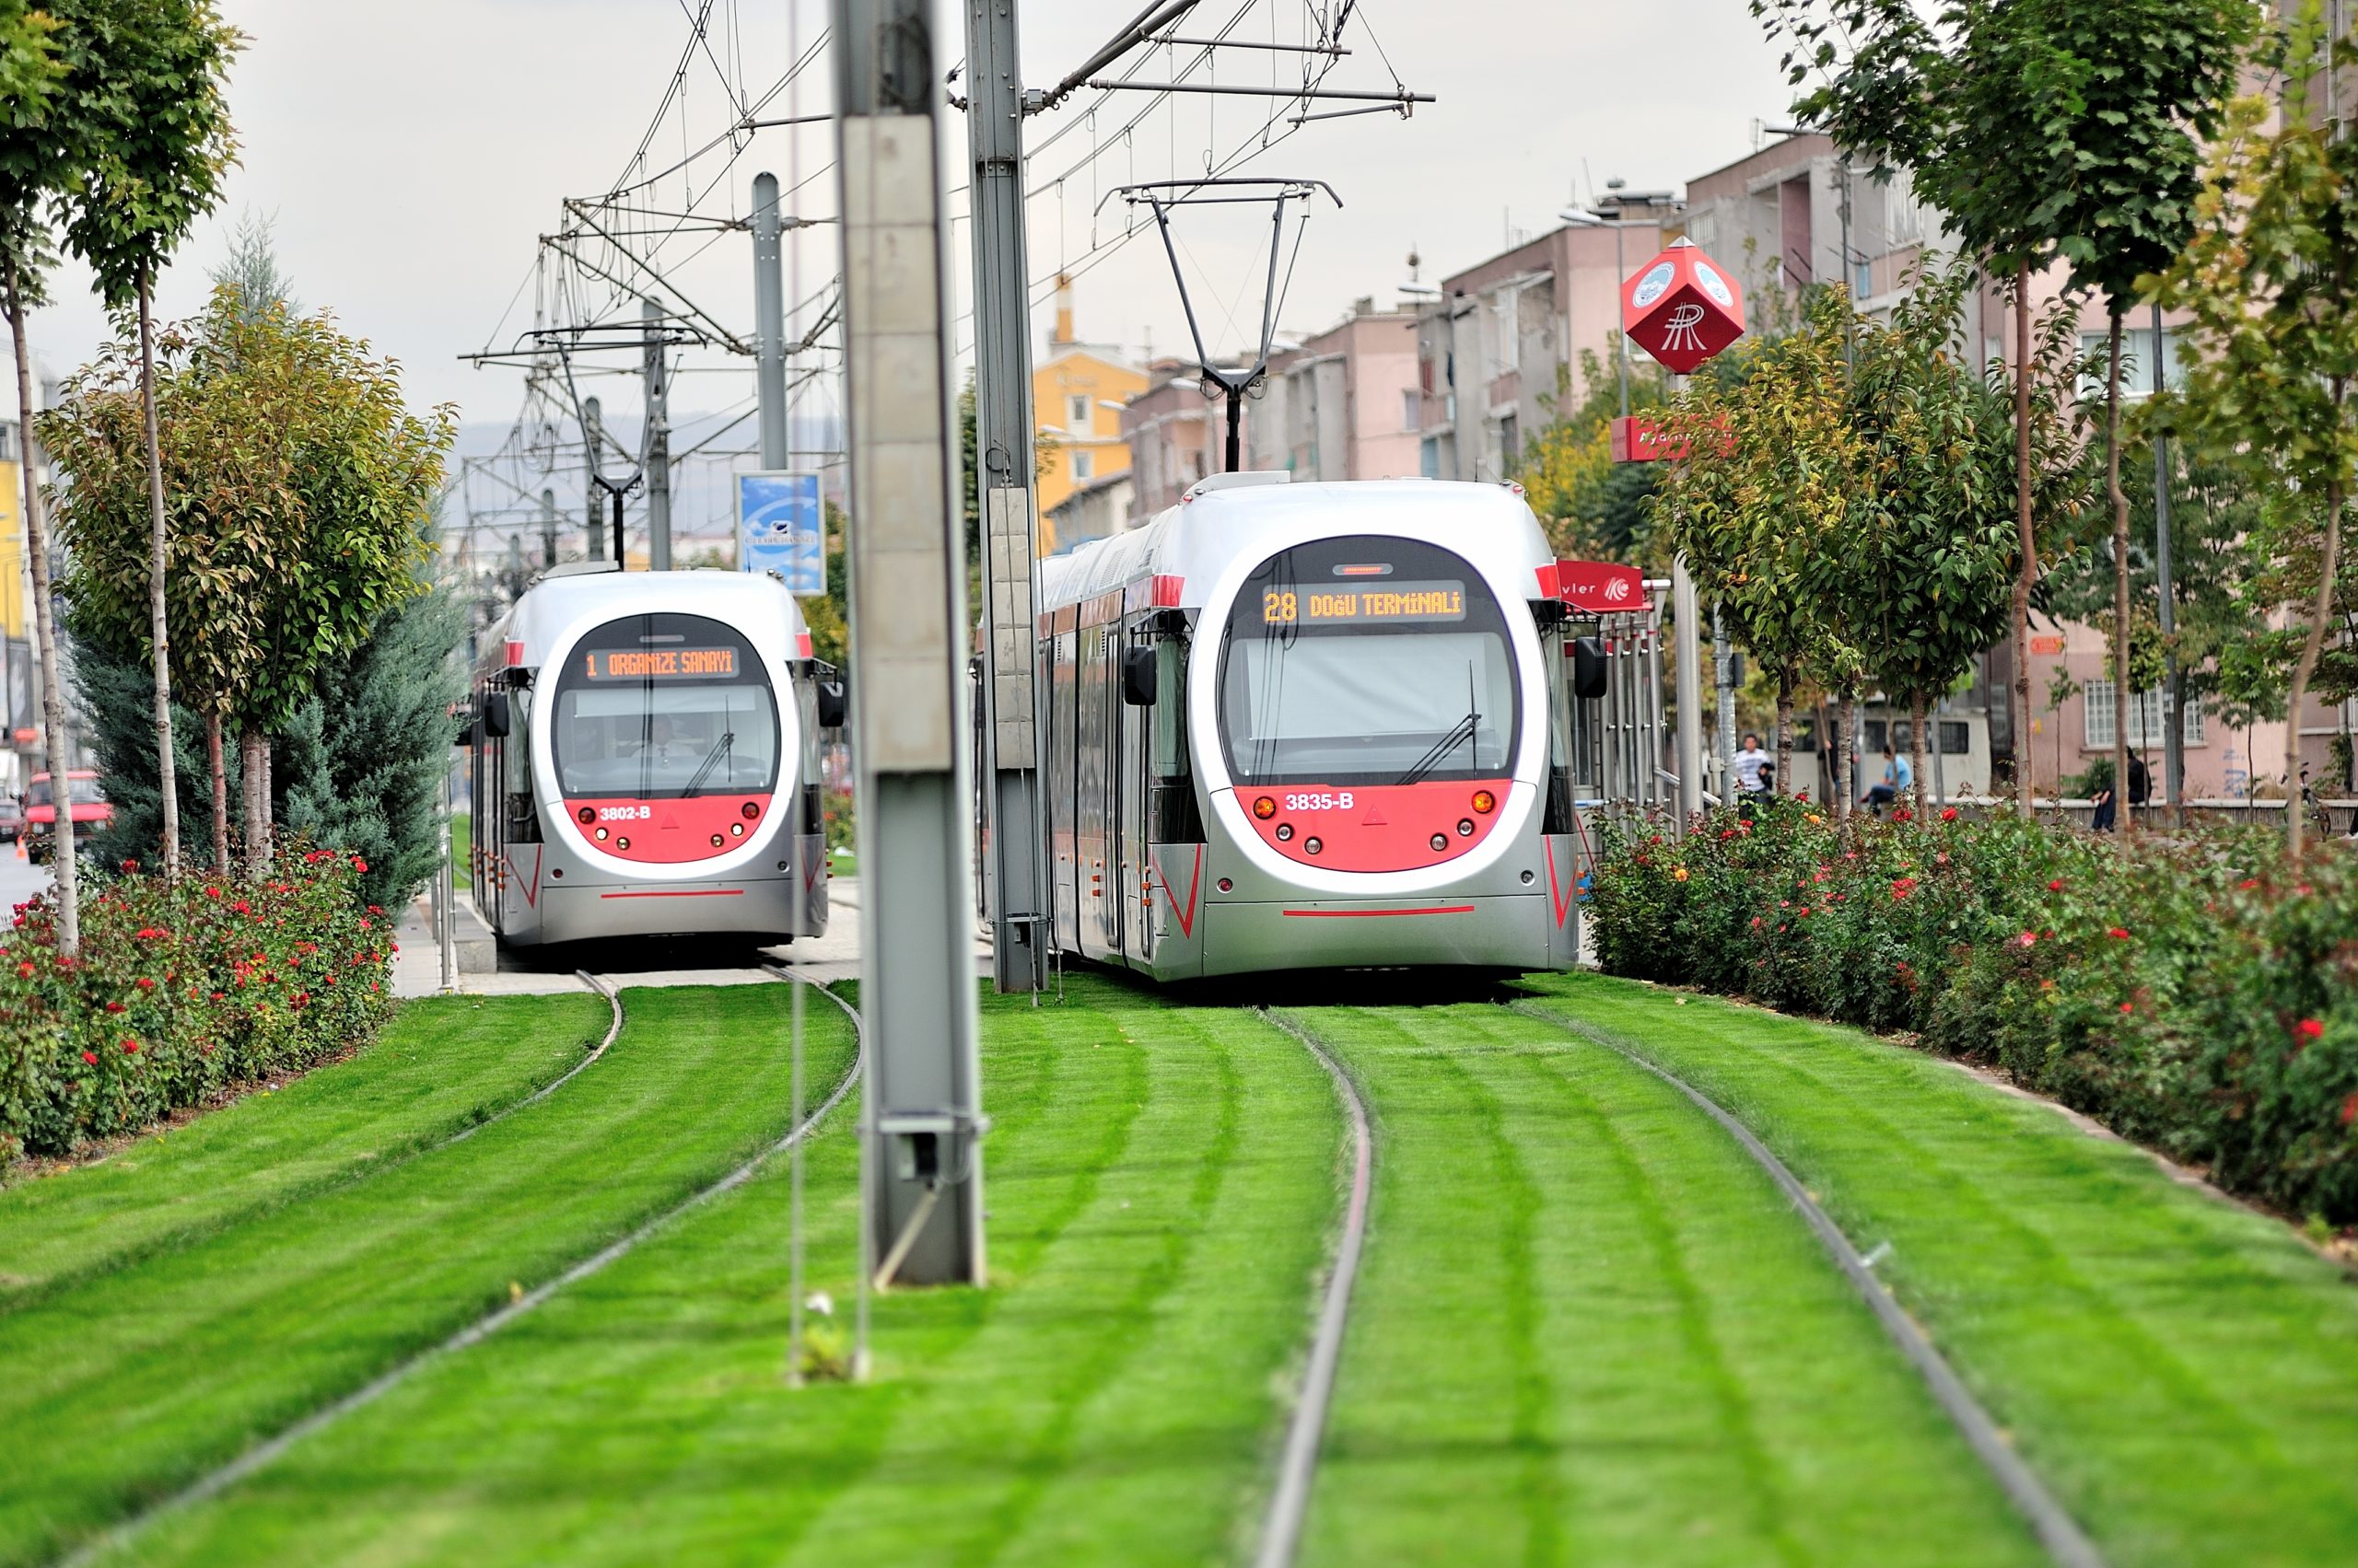
<svg viewBox="0 0 2358 1568"><path fill-rule="evenodd" d="M1040 726L1033 693L1030 292L1023 245L1023 80L1014 0L967 0L967 141L974 156L974 439L983 488L983 792L990 865L990 979L1047 983L1047 877L1040 875ZM1092 413L1094 417L1094 413ZM1087 431L1073 431L1085 436Z"/></svg>

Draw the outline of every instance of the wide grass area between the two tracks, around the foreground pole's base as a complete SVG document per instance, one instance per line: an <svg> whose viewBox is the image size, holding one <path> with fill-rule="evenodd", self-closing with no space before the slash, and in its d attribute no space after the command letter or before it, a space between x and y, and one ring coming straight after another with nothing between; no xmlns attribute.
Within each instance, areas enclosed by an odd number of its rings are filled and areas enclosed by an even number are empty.
<svg viewBox="0 0 2358 1568"><path fill-rule="evenodd" d="M872 1384L780 1386L773 1162L120 1561L1243 1554L1335 1219L1335 1092L1252 1014L1068 997L986 1002L993 1290L880 1299ZM814 1283L847 1309L849 1120L811 1151Z"/></svg>

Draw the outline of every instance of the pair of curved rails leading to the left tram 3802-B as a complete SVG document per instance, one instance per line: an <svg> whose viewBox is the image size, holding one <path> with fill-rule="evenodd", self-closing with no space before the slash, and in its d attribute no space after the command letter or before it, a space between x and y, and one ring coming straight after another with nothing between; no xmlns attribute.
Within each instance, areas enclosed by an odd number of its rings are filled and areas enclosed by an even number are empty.
<svg viewBox="0 0 2358 1568"><path fill-rule="evenodd" d="M512 1302L498 1306L495 1311L483 1313L481 1318L476 1318L467 1327L453 1332L450 1337L441 1339L439 1344L427 1346L427 1349L422 1349L422 1351L403 1358L401 1363L396 1363L394 1368L380 1372L377 1377L373 1377L370 1382L361 1384L351 1394L344 1394L344 1396L330 1401L328 1405L321 1405L318 1410L314 1410L311 1415L307 1415L307 1417L297 1419L297 1422L292 1422L290 1427L283 1427L278 1434L274 1434L274 1436L255 1443L252 1448L243 1450L238 1457L233 1457L226 1464L208 1471L205 1476L196 1478L193 1483L184 1485L182 1490L177 1490L177 1493L172 1493L172 1495L167 1495L167 1497L163 1497L163 1500L158 1500L158 1502L139 1509L137 1514L132 1514L132 1516L127 1516L127 1518L123 1518L123 1521L118 1521L118 1523L99 1530L97 1535L92 1535L90 1540L80 1542L78 1547L73 1547L71 1551L66 1551L64 1556L59 1556L54 1561L61 1568L80 1568L85 1563L97 1563L106 1554L111 1554L113 1549L118 1549L118 1547L127 1544L130 1540L134 1540L149 1526L153 1526L153 1523L158 1523L163 1518L170 1518L172 1514L179 1514L184 1509L191 1509L196 1504L203 1504L203 1502L208 1502L208 1500L226 1493L229 1488L238 1485L241 1481L248 1481L250 1476L269 1469L278 1457L283 1457L288 1450L292 1450L304 1438L311 1438L311 1436L325 1431L328 1427L337 1424L347 1415L354 1415L356 1410L363 1410L363 1408L377 1403L380 1398L384 1398L387 1394L391 1394L394 1389L399 1389L401 1384L406 1384L410 1377L415 1377L420 1370L424 1370L424 1368L429 1368L429 1365L434 1365L439 1361L446 1361L446 1358L450 1358L450 1356L455 1356L460 1351L467 1351L469 1346L481 1344L483 1339L490 1339L500 1330L509 1327L519 1318L523 1318L531 1311L535 1311L542 1304L547 1304L552 1297L556 1297L568 1285L578 1285L580 1280L587 1280L590 1276L604 1271L606 1266L620 1261L623 1257L627 1257L630 1252L634 1252L641 1243L646 1243L653 1236L658 1236L660 1231L670 1228L677 1219L686 1217L689 1212L703 1207L705 1203L710 1203L710 1200L714 1200L714 1198L719 1198L719 1195L724 1195L729 1191L736 1191L738 1186L743 1186L745 1181L750 1181L778 1153L785 1153L799 1139L809 1137L821 1122L825 1122L828 1115L835 1113L835 1108L844 1101L844 1096L849 1096L851 1089L858 1085L861 1070L865 1068L865 1061L868 1061L865 1035L861 1030L858 1009L851 1007L851 1002L847 1002L844 997L835 995L832 990L828 990L818 981L797 976L790 969L776 967L773 971L785 983L811 986L823 997L828 997L830 1002L835 1002L844 1012L844 1016L851 1021L851 1033L854 1033L851 1066L844 1070L842 1080L835 1085L835 1089L828 1092L828 1096L818 1103L816 1111L811 1111L809 1115L804 1115L797 1125L788 1127L783 1137L778 1137L776 1141L762 1146L759 1151L755 1151L750 1158L745 1158L743 1162L738 1162L733 1170L729 1170L719 1179L707 1181L705 1186L691 1191L689 1195L679 1198L667 1210L663 1210L660 1214L653 1214L651 1219L644 1219L639 1226L634 1226L630 1233L620 1236L618 1240L608 1243L606 1247L601 1247L601 1250L592 1252L590 1257L571 1264L568 1269L564 1269L556 1276L542 1280L533 1290L521 1292L519 1297L514 1297ZM554 1092L566 1080L575 1078L582 1068L587 1068L590 1061L597 1061L606 1052L606 1047L611 1047L620 1037L623 1023L625 1023L620 990L611 981L604 981L601 976L592 976L590 971L578 971L578 974L580 974L580 979L592 990L599 990L613 1004L613 1026L608 1028L606 1040L597 1047L597 1052L592 1052L592 1056L587 1056L573 1070L568 1070L561 1078L552 1080L538 1094L533 1094L533 1096L528 1096L528 1099L509 1106L507 1111L502 1111L502 1115L509 1115L509 1113L521 1111L523 1106L528 1106L533 1101L545 1099L549 1092ZM493 1118L493 1120L498 1120L498 1118ZM490 1125L490 1122L488 1120L486 1122L476 1122L467 1132L476 1132L476 1129L481 1129L486 1125ZM465 1137L465 1134L460 1134L460 1137ZM448 1148L455 1141L460 1141L460 1139L448 1139L439 1148Z"/></svg>

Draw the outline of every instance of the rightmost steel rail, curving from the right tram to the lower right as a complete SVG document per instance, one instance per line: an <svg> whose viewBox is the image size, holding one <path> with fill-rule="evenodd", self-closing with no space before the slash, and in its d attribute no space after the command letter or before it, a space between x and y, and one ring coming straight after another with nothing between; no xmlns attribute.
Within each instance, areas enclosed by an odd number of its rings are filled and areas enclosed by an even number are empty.
<svg viewBox="0 0 2358 1568"><path fill-rule="evenodd" d="M1915 1318L1908 1316L1891 1290L1875 1278L1875 1269L1858 1254L1851 1238L1842 1233L1835 1217L1809 1195L1809 1188L1802 1186L1792 1170L1787 1170L1787 1165L1778 1160L1750 1127L1735 1120L1731 1111L1721 1108L1719 1101L1702 1089L1693 1087L1677 1073L1655 1066L1644 1054L1620 1045L1611 1035L1575 1019L1566 1019L1563 1014L1540 1007L1537 1002L1514 1002L1511 1007L1533 1019L1544 1019L1556 1028L1580 1035L1592 1045L1601 1045L1615 1056L1646 1068L1719 1122L1719 1127L1735 1139L1764 1172L1768 1172L1768 1179L1778 1184L1778 1191L1785 1193L1792 1207L1802 1210L1802 1219L1806 1219L1809 1228L1818 1233L1825 1250L1835 1254L1835 1264L1842 1269L1844 1278L1849 1278L1858 1294L1865 1297L1875 1320L1884 1325L1891 1342L1924 1377L1934 1401L1938 1401L1941 1410L1948 1412L1948 1419L1957 1427L1964 1445L1974 1450L1974 1457L1981 1460L1981 1464L1990 1471L1990 1478L1997 1481L2007 1502L2014 1504L2014 1509L2030 1526L2030 1533L2040 1537L2042 1547L2047 1547L2047 1556L2061 1563L2061 1568L2106 1568L2103 1554L2096 1551L2096 1542L2092 1542L2063 1504L2054 1500L2047 1483L2040 1481L2028 1464L2023 1464L2023 1457L2014 1452L2000 1434L1997 1422L1981 1408L1981 1401L1976 1401L1964 1386L1955 1368L1950 1368L1941 1351L1934 1349L1931 1339L1924 1337L1924 1330L1917 1327Z"/></svg>

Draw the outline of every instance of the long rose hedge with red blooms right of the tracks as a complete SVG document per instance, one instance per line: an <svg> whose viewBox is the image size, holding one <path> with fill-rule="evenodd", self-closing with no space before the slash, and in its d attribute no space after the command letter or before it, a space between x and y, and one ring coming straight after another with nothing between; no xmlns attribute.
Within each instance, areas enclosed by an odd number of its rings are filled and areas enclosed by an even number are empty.
<svg viewBox="0 0 2358 1568"><path fill-rule="evenodd" d="M2122 846L2004 813L1806 804L1608 837L1608 974L1747 995L2004 1068L2294 1214L2358 1221L2358 858Z"/></svg>

